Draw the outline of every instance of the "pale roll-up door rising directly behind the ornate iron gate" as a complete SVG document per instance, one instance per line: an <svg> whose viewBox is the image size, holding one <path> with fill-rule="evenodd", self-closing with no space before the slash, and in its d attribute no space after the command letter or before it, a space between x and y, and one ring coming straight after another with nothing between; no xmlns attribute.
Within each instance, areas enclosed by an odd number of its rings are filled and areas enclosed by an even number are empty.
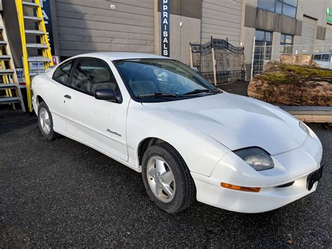
<svg viewBox="0 0 332 249"><path fill-rule="evenodd" d="M241 0L202 1L202 41L213 36L226 39L234 46L240 45Z"/></svg>

